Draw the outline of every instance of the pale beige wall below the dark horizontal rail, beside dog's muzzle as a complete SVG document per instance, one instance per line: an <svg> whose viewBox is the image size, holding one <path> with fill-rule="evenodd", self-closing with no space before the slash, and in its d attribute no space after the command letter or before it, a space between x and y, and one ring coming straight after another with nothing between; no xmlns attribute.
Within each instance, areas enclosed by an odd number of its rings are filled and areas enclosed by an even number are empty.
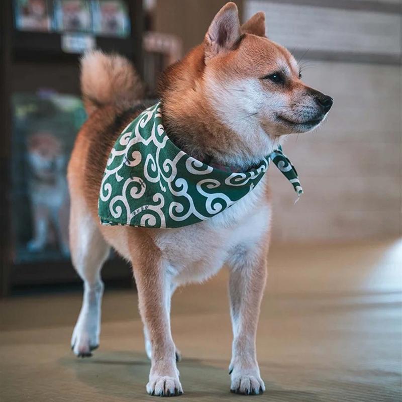
<svg viewBox="0 0 402 402"><path fill-rule="evenodd" d="M290 137L284 151L305 194L293 205L272 169L274 239L382 238L401 234L400 67L308 61L309 85L334 106L316 132Z"/></svg>

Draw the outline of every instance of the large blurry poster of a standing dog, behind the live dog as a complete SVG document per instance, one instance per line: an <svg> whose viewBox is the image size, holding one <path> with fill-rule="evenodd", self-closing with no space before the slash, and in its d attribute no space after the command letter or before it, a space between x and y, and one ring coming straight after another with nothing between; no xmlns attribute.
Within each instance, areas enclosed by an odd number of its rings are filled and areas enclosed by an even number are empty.
<svg viewBox="0 0 402 402"><path fill-rule="evenodd" d="M53 93L13 95L14 249L18 261L67 258L66 166L86 115L79 98Z"/></svg>

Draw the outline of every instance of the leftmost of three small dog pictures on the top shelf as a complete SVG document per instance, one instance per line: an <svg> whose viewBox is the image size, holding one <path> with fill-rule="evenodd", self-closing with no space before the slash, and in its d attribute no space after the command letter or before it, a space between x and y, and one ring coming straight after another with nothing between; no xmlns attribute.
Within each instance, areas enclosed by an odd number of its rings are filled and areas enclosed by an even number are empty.
<svg viewBox="0 0 402 402"><path fill-rule="evenodd" d="M15 25L19 31L50 31L52 19L46 0L15 0Z"/></svg>

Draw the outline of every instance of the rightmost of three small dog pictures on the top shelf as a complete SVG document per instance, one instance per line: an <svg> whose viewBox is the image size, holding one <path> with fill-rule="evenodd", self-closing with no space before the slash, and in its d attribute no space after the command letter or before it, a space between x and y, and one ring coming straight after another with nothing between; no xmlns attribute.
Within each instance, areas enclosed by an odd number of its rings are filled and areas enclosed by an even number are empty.
<svg viewBox="0 0 402 402"><path fill-rule="evenodd" d="M123 0L92 0L93 32L100 36L126 38L130 18Z"/></svg>

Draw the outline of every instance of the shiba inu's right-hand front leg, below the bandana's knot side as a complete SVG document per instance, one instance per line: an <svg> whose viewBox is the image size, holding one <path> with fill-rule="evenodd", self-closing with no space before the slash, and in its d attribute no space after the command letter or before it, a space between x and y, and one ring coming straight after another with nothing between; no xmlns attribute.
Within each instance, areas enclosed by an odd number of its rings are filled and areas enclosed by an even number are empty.
<svg viewBox="0 0 402 402"><path fill-rule="evenodd" d="M266 281L265 252L242 249L232 256L230 263L229 293L233 325L230 389L236 393L258 394L265 390L255 348Z"/></svg>

